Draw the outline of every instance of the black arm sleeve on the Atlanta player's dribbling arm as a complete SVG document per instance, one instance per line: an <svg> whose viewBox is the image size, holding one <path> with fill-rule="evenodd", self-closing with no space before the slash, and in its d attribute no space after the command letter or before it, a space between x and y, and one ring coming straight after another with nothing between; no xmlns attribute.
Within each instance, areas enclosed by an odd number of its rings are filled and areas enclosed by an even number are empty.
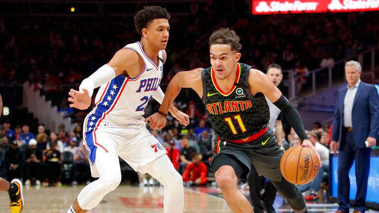
<svg viewBox="0 0 379 213"><path fill-rule="evenodd" d="M282 94L282 96L280 96L280 98L273 104L282 111L282 113L284 114L284 116L287 118L288 122L292 126L292 128L294 128L296 134L298 134L300 140L302 140L303 142L305 139L308 139L308 136L305 133L303 121L302 121L302 118L300 117L299 112L284 97L284 95Z"/></svg>

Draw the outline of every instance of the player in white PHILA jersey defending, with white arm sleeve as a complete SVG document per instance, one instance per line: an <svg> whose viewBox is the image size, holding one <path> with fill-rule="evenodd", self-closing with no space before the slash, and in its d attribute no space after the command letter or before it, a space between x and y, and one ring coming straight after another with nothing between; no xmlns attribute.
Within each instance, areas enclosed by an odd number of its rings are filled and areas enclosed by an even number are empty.
<svg viewBox="0 0 379 213"><path fill-rule="evenodd" d="M150 174L164 186L164 213L182 213L182 177L166 155L164 147L146 129L142 115L150 99L162 102L159 87L170 14L160 6L146 6L134 16L141 41L117 51L111 61L84 79L79 91L71 89L71 107L90 106L93 89L100 86L95 107L83 124L83 143L90 151L89 163L98 180L85 186L68 213L95 208L121 181L118 156L135 171ZM170 113L183 125L189 117L170 106ZM162 115L166 116L166 114Z"/></svg>

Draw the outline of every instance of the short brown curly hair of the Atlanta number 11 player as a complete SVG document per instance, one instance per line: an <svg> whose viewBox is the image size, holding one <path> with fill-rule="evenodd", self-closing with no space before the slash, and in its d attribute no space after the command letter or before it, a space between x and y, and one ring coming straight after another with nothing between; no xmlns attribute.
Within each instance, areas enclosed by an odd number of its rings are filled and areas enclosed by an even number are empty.
<svg viewBox="0 0 379 213"><path fill-rule="evenodd" d="M212 33L209 37L209 47L213 44L227 44L230 45L230 49L239 52L242 48L242 44L239 43L239 36L235 31L229 28L221 28Z"/></svg>

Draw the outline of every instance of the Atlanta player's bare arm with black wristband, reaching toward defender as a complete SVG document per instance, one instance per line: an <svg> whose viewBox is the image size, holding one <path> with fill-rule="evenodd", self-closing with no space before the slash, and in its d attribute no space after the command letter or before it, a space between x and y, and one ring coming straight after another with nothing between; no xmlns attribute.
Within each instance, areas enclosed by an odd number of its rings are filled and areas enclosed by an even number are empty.
<svg viewBox="0 0 379 213"><path fill-rule="evenodd" d="M158 112L145 119L145 122L150 122L152 129L162 129L166 125L167 112L183 87L192 88L200 97L202 96L202 70L198 68L192 71L181 71L171 79Z"/></svg>

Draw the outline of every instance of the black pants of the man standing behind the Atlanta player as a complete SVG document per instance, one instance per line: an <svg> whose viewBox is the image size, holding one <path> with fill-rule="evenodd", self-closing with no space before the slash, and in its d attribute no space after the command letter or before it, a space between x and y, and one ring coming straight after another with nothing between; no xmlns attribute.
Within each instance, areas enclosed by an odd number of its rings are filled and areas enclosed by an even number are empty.
<svg viewBox="0 0 379 213"><path fill-rule="evenodd" d="M265 183L265 177L258 175L254 165L251 165L250 175L247 181L249 182L250 199L254 207L254 212L263 213L261 200L264 204L272 206L276 197L276 188L272 185L271 181ZM265 193L261 196L261 189L263 187L265 187Z"/></svg>

